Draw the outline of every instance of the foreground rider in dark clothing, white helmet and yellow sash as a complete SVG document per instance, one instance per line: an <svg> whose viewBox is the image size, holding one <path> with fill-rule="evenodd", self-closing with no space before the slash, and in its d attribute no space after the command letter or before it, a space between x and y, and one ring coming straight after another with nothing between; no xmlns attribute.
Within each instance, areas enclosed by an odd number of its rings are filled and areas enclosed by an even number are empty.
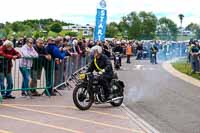
<svg viewBox="0 0 200 133"><path fill-rule="evenodd" d="M100 46L95 46L94 50L94 60L90 64L87 72L99 72L102 74L99 83L103 86L105 91L105 97L107 99L112 99L110 82L113 78L113 68L110 59L102 54L102 48Z"/></svg>

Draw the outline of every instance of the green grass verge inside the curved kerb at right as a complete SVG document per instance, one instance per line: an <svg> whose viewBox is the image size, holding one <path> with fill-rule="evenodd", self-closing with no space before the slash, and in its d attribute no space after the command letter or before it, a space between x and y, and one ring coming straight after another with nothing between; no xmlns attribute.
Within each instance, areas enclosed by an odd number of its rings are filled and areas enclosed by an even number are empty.
<svg viewBox="0 0 200 133"><path fill-rule="evenodd" d="M191 64L188 64L186 60L176 61L176 62L172 63L172 66L176 70L178 70L178 71L180 71L180 72L182 72L184 74L187 74L187 75L189 75L189 76L191 76L191 77L193 77L195 79L200 80L200 75L199 74L192 74L191 73L192 72Z"/></svg>

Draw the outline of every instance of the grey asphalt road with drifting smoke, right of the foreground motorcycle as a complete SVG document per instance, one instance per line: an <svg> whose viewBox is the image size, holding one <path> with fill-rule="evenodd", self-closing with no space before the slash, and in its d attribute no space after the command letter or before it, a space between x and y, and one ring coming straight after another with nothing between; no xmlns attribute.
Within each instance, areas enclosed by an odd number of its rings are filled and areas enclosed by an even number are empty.
<svg viewBox="0 0 200 133"><path fill-rule="evenodd" d="M125 64L125 105L161 133L200 133L200 88L174 77L161 63Z"/></svg>

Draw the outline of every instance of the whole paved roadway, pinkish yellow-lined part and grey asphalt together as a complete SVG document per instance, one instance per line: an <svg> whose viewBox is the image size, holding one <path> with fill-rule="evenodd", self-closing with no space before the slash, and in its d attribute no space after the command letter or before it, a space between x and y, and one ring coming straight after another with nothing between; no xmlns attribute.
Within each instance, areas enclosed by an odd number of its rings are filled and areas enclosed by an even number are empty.
<svg viewBox="0 0 200 133"><path fill-rule="evenodd" d="M118 71L125 81L124 104L161 133L200 133L200 88L168 73L149 61L123 64ZM72 90L52 98L5 100L0 106L0 132L143 132L122 108L94 105L90 112L77 110Z"/></svg>

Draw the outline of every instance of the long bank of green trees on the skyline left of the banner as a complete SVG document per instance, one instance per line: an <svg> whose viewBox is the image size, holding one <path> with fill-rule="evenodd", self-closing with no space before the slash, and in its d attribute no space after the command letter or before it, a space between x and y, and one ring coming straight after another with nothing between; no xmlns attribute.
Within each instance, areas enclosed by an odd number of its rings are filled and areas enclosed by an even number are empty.
<svg viewBox="0 0 200 133"><path fill-rule="evenodd" d="M21 37L26 35L27 37L31 36L46 36L47 34L43 33L43 31L47 31L47 33L51 30L51 26L53 24L61 25L61 28L54 28L57 32L62 30L62 26L71 25L71 23L65 23L59 20L53 19L34 19L34 20L25 20L25 21L16 21L13 23L6 22L5 24L0 23L0 34L1 36L12 36L13 32L16 33L17 37ZM34 33L37 31L38 33ZM53 34L53 33L52 33Z"/></svg>

